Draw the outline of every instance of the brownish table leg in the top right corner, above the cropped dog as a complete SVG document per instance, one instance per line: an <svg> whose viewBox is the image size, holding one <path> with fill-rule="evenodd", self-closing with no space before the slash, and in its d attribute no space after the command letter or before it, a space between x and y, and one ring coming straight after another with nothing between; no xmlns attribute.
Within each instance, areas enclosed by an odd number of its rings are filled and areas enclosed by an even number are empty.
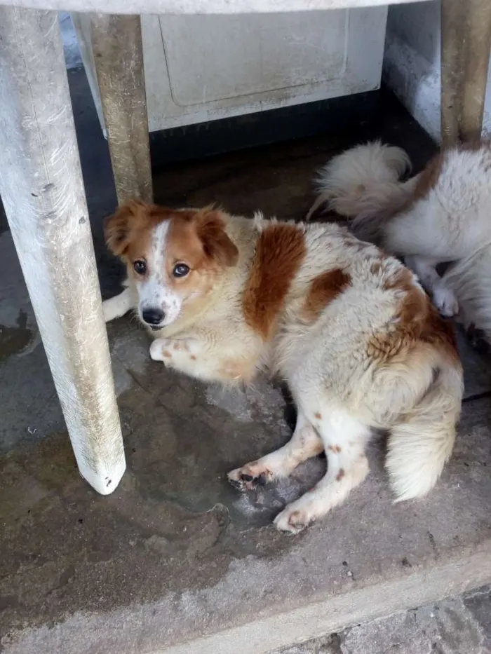
<svg viewBox="0 0 491 654"><path fill-rule="evenodd" d="M483 128L491 0L441 0L442 144L477 141Z"/></svg>

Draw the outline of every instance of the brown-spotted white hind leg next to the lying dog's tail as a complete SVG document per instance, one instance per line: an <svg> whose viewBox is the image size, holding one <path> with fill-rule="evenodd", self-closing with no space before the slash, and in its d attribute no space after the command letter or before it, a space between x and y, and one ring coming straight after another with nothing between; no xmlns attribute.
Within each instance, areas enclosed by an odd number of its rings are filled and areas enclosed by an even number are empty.
<svg viewBox="0 0 491 654"><path fill-rule="evenodd" d="M276 516L274 522L281 531L302 531L342 503L368 474L365 444L370 438L370 428L338 409L325 416L316 412L312 417L324 444L328 471L311 491Z"/></svg>

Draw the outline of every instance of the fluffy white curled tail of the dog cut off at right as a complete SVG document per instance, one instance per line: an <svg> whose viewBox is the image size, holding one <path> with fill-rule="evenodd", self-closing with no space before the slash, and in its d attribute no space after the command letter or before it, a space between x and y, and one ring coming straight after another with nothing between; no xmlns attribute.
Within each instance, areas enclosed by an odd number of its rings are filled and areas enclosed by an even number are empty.
<svg viewBox="0 0 491 654"><path fill-rule="evenodd" d="M410 160L401 148L377 141L347 150L318 173L318 197L307 220L322 205L358 221L394 214L415 188L417 177L399 182L406 170L410 170Z"/></svg>

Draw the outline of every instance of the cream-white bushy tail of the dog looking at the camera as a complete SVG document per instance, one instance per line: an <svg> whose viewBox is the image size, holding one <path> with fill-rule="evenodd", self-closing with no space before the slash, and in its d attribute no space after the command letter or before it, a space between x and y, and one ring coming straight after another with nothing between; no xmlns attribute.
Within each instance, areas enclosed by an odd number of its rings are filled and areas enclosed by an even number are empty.
<svg viewBox="0 0 491 654"><path fill-rule="evenodd" d="M429 389L390 430L386 470L396 501L430 491L452 454L462 406L462 367L443 358L433 371L436 379Z"/></svg>

